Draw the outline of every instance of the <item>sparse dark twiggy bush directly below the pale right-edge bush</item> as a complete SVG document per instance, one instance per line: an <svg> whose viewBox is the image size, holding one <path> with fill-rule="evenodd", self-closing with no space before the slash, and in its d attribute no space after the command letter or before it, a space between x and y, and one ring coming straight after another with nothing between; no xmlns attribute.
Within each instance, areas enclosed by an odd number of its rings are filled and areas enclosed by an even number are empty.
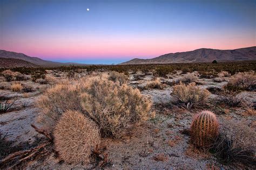
<svg viewBox="0 0 256 170"><path fill-rule="evenodd" d="M246 97L247 95L240 93L239 90L233 91L224 87L218 93L217 101L230 107L241 107L246 105Z"/></svg>

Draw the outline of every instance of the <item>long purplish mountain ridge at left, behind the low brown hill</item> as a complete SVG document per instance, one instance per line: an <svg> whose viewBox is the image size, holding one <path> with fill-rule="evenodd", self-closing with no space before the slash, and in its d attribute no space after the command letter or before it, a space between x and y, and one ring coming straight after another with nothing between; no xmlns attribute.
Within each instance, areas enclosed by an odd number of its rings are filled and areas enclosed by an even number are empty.
<svg viewBox="0 0 256 170"><path fill-rule="evenodd" d="M54 61L48 61L48 60L42 60L37 57L32 57L25 55L23 53L16 53L16 52L10 52L10 51L5 51L0 49L0 58L7 58L7 59L20 59L24 61L31 62L35 65L38 66L50 66L50 67L55 67L55 66L68 66L68 65L85 65L85 64L79 64L75 62L54 62Z"/></svg>

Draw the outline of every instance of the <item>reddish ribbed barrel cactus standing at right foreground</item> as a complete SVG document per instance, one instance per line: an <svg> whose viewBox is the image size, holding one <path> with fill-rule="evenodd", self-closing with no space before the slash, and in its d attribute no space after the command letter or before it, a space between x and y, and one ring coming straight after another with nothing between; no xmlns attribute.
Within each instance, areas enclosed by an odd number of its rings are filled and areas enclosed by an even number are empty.
<svg viewBox="0 0 256 170"><path fill-rule="evenodd" d="M191 141L196 147L210 146L218 136L219 123L211 111L201 111L191 125Z"/></svg>

